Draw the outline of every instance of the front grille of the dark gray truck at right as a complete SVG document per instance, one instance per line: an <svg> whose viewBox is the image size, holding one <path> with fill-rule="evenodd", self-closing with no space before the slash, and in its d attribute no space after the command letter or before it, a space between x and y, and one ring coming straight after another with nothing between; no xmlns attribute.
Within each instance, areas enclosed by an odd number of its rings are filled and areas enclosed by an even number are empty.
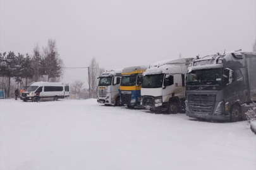
<svg viewBox="0 0 256 170"><path fill-rule="evenodd" d="M215 95L188 95L191 113L211 114L214 110Z"/></svg>

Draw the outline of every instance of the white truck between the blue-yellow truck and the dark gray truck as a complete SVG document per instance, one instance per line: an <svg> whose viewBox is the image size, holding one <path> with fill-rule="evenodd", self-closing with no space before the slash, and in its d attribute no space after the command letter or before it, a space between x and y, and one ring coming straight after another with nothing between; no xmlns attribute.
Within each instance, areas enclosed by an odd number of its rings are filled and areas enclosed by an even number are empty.
<svg viewBox="0 0 256 170"><path fill-rule="evenodd" d="M143 73L142 108L178 113L185 111L185 74L193 58L163 60Z"/></svg>

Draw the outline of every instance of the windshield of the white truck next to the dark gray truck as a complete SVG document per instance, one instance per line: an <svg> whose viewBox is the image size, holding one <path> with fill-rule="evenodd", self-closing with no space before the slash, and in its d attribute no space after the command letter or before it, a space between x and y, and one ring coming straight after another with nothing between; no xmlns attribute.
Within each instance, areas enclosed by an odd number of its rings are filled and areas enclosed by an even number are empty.
<svg viewBox="0 0 256 170"><path fill-rule="evenodd" d="M164 74L152 74L143 77L142 88L162 88Z"/></svg>

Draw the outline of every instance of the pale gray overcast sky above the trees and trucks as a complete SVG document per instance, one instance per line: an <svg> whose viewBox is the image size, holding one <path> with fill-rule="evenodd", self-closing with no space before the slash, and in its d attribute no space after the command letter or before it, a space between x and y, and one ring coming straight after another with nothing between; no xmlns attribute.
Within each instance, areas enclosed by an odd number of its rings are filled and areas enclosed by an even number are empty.
<svg viewBox="0 0 256 170"><path fill-rule="evenodd" d="M32 54L56 40L66 67L119 69L159 60L252 51L255 0L11 1L0 0L0 52ZM87 69L63 81L87 82ZM87 83L86 83L87 84Z"/></svg>

